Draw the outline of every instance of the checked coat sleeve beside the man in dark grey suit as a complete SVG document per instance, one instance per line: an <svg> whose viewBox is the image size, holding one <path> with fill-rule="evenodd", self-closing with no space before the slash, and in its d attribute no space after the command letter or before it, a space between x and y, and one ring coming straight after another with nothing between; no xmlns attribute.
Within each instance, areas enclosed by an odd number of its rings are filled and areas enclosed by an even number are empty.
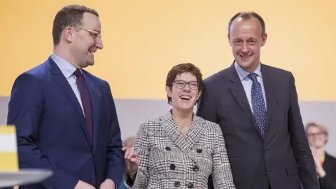
<svg viewBox="0 0 336 189"><path fill-rule="evenodd" d="M214 153L212 155L213 170L212 178L214 188L218 189L235 189L233 176L228 158L228 153L225 148L225 140L221 131L221 127L216 124L216 143L214 144Z"/></svg>

